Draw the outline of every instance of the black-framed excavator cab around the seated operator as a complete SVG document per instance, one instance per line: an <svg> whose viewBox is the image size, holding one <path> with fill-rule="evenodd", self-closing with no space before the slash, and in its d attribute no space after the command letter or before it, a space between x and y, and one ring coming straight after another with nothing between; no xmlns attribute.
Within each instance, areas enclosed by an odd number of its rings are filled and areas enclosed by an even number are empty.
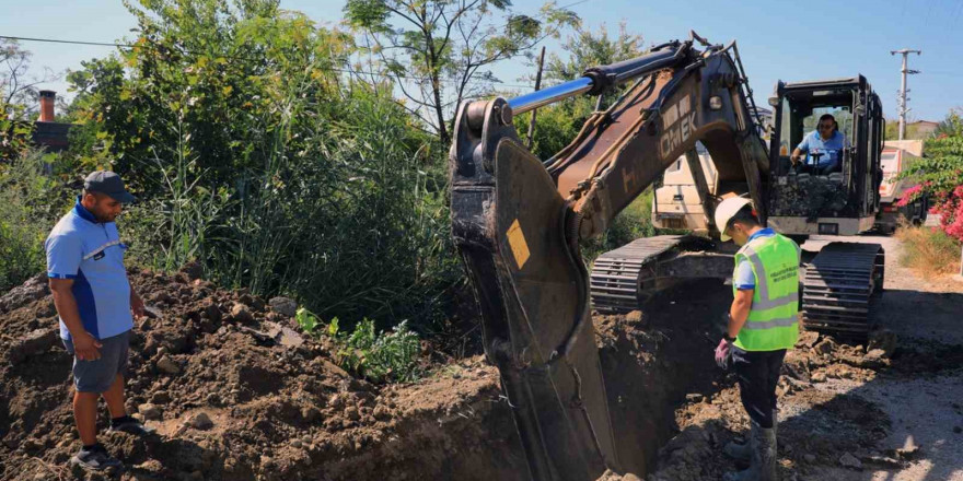
<svg viewBox="0 0 963 481"><path fill-rule="evenodd" d="M880 201L884 119L880 98L866 78L779 82L769 105L769 226L796 236L855 235L872 228ZM792 151L825 114L836 119L845 146L809 152L804 163L793 166Z"/></svg>

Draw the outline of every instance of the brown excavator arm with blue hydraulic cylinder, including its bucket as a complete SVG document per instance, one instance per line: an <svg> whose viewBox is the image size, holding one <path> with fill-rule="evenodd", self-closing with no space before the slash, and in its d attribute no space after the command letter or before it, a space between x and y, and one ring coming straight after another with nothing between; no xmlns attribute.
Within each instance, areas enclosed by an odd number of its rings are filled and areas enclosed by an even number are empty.
<svg viewBox="0 0 963 481"><path fill-rule="evenodd" d="M697 40L705 50L694 47ZM450 161L452 234L480 305L486 355L500 372L535 480L593 480L619 469L579 241L604 232L696 141L720 179L764 206L768 160L734 48L693 34L572 82L460 107ZM629 82L544 162L512 126L514 114Z"/></svg>

